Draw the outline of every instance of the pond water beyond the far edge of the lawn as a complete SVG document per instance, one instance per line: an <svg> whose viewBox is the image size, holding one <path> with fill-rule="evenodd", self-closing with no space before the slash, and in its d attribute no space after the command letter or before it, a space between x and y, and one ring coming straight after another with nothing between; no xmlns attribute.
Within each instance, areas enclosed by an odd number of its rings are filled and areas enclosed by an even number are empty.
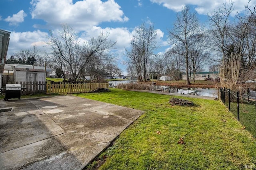
<svg viewBox="0 0 256 170"><path fill-rule="evenodd" d="M136 82L134 80L119 80L119 81L110 81L113 86L117 86L120 83L130 83ZM216 88L176 88L172 86L155 86L156 89L163 89L163 92L177 93L182 90L196 90L197 95L199 96L209 96L218 98L218 90Z"/></svg>

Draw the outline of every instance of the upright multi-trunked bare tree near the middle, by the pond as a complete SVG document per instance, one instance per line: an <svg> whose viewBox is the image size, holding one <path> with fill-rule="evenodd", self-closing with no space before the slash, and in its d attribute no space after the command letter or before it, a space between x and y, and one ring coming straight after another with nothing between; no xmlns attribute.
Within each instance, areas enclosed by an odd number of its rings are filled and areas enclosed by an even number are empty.
<svg viewBox="0 0 256 170"><path fill-rule="evenodd" d="M143 23L135 29L135 35L131 41L131 50L126 49L126 56L130 63L133 63L137 70L138 80L146 81L148 61L156 46L156 30L154 25L148 27Z"/></svg>

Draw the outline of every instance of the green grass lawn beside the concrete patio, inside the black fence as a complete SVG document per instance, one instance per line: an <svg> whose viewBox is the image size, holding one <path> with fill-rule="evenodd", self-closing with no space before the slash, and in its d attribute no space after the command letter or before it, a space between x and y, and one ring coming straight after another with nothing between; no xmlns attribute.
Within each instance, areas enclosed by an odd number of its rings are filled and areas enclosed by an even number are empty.
<svg viewBox="0 0 256 170"><path fill-rule="evenodd" d="M256 141L220 101L184 98L193 107L171 106L170 96L111 89L76 94L145 111L98 160L100 169L242 169L256 164ZM157 133L160 132L160 133ZM183 137L184 144L178 141Z"/></svg>

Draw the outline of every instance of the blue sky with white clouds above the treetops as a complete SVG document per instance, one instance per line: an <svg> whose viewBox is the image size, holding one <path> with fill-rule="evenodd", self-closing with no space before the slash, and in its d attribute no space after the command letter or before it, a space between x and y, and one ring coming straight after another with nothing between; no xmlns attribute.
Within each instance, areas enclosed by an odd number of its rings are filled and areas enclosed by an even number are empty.
<svg viewBox="0 0 256 170"><path fill-rule="evenodd" d="M41 51L47 45L49 30L61 30L60 24L69 25L79 34L79 41L97 37L100 32L110 33L117 41L114 55L117 64L126 73L124 49L129 48L134 29L143 22L153 23L159 46L155 53L164 53L168 44L168 30L186 4L198 13L200 23L207 27L207 14L221 6L224 0L0 0L0 29L10 31L7 58L15 51ZM234 12L242 13L248 0L233 0ZM252 0L250 5L255 5Z"/></svg>

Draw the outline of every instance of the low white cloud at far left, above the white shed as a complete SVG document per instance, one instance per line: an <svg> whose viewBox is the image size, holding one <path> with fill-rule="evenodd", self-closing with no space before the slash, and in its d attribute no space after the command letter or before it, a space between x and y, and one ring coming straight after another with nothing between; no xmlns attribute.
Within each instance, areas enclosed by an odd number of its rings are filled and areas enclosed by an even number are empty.
<svg viewBox="0 0 256 170"><path fill-rule="evenodd" d="M36 45L39 50L47 50L48 45L45 43L47 42L47 35L48 33L40 30L33 32L11 32L8 56L14 55L16 51L21 49L30 49L33 45Z"/></svg>

